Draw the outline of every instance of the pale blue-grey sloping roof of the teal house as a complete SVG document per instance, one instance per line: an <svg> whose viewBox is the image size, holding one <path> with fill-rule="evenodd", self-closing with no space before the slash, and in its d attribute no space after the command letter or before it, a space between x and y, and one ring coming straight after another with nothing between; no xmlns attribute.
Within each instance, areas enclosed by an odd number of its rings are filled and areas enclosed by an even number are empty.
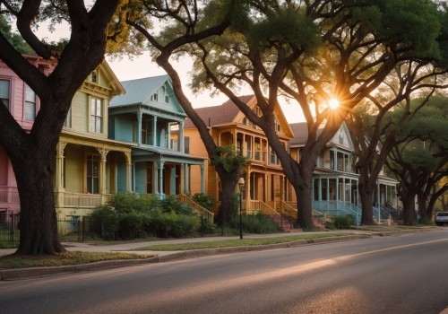
<svg viewBox="0 0 448 314"><path fill-rule="evenodd" d="M126 93L115 97L110 101L109 107L119 107L134 104L148 105L151 95L159 90L159 87L169 81L168 75L144 77L141 79L123 81L121 84Z"/></svg>

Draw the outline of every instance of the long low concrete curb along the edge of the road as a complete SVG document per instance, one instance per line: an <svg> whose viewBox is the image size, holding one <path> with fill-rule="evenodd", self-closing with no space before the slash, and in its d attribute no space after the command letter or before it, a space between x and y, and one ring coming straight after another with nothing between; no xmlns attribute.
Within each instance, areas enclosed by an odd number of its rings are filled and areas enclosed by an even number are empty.
<svg viewBox="0 0 448 314"><path fill-rule="evenodd" d="M48 275L80 273L92 270L101 270L101 269L125 267L125 266L138 266L150 263L163 263L186 258L207 257L219 254L261 251L265 249L289 249L313 244L340 242L347 240L359 240L368 238L372 238L372 235L359 234L359 235L348 235L348 236L338 236L328 238L316 238L307 240L296 240L285 243L265 244L259 246L242 246L242 247L228 247L217 249L194 249L194 250L178 251L176 253L168 254L161 257L149 257L144 259L107 260L107 261L100 261L73 266L49 266L49 267L32 267L32 268L20 268L20 269L3 269L0 270L0 281L13 281L28 278L44 277Z"/></svg>

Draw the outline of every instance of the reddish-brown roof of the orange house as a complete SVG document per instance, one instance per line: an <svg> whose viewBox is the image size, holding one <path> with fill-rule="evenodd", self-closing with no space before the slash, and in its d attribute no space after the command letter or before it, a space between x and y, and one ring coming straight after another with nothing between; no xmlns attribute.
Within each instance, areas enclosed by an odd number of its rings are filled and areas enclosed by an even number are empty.
<svg viewBox="0 0 448 314"><path fill-rule="evenodd" d="M247 103L253 97L253 95L246 95L239 97L239 99ZM233 123L239 112L237 105L232 100L227 100L219 106L203 107L194 110L205 124L208 125L210 119L211 126ZM191 119L185 121L184 128L195 128Z"/></svg>

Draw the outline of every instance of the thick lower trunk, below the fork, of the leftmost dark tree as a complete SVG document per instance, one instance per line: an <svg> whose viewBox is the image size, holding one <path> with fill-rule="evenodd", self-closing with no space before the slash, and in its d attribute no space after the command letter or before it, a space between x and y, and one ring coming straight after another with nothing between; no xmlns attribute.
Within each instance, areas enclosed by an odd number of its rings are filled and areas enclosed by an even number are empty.
<svg viewBox="0 0 448 314"><path fill-rule="evenodd" d="M64 251L57 239L53 192L55 154L42 144L28 147L22 150L21 161L13 161L13 169L21 198L21 234L16 254Z"/></svg>

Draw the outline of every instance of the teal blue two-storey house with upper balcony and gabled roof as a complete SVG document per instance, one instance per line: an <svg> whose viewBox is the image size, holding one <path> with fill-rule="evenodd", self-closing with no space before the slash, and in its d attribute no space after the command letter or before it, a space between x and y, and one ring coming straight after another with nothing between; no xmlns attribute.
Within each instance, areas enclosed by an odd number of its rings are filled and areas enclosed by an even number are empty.
<svg viewBox="0 0 448 314"><path fill-rule="evenodd" d="M108 135L137 144L132 148L133 191L161 198L188 195L192 167L198 167L203 192L204 159L185 153L189 146L184 136L186 115L168 75L121 84L125 94L111 100L108 107Z"/></svg>

